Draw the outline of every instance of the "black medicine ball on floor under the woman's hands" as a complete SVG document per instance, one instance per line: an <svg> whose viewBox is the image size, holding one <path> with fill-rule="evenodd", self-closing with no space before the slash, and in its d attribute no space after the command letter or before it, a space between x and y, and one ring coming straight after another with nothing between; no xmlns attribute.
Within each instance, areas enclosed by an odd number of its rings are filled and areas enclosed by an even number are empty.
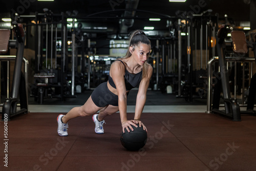
<svg viewBox="0 0 256 171"><path fill-rule="evenodd" d="M137 151L146 144L147 133L143 130L143 126L138 127L132 125L134 131L130 130L130 133L124 129L124 133L120 134L121 144L129 151ZM129 128L130 129L130 128Z"/></svg>

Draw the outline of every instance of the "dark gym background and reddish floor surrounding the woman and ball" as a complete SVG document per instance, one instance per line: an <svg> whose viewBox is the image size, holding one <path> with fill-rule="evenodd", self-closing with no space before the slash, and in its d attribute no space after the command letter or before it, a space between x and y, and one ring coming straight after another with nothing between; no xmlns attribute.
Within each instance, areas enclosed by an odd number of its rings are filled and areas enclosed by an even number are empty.
<svg viewBox="0 0 256 171"><path fill-rule="evenodd" d="M177 1L0 2L0 169L255 170L256 0ZM58 136L137 29L152 50L146 145L123 148L118 113L102 135L79 117Z"/></svg>

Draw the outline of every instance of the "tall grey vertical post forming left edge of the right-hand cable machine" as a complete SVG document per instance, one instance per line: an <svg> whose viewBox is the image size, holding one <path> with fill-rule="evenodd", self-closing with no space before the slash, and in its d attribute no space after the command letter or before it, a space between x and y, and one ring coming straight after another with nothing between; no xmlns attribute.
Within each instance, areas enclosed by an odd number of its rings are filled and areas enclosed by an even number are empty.
<svg viewBox="0 0 256 171"><path fill-rule="evenodd" d="M182 57L182 52L181 52L181 19L178 19L178 25L179 25L179 30L178 30L178 96L181 96L181 57Z"/></svg>

